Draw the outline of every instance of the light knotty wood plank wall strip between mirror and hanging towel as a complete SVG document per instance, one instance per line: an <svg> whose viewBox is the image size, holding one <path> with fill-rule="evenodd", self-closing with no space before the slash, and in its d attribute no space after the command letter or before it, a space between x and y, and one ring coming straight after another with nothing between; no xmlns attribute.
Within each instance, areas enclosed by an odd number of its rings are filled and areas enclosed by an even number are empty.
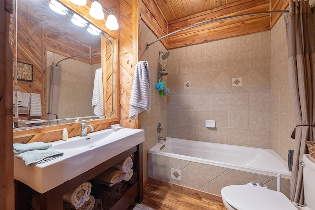
<svg viewBox="0 0 315 210"><path fill-rule="evenodd" d="M137 0L119 0L119 119L128 128L138 128L138 118L129 118L133 71L138 61Z"/></svg>

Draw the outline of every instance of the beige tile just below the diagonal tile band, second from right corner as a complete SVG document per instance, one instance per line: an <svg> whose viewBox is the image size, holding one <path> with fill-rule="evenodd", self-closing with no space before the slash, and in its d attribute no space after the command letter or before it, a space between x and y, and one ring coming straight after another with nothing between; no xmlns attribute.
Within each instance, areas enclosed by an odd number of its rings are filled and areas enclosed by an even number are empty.
<svg viewBox="0 0 315 210"><path fill-rule="evenodd" d="M248 111L249 109L248 94L229 94L228 110L229 111Z"/></svg>

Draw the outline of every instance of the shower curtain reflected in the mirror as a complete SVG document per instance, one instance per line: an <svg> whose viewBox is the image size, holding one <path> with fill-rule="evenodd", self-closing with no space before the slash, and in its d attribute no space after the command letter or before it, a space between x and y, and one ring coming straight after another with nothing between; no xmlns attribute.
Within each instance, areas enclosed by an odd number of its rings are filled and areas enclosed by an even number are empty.
<svg viewBox="0 0 315 210"><path fill-rule="evenodd" d="M60 95L60 81L61 81L61 64L56 66L56 63L52 63L51 66L51 77L50 77L50 93L48 103L48 120L58 119L58 103ZM56 124L57 121L51 122Z"/></svg>

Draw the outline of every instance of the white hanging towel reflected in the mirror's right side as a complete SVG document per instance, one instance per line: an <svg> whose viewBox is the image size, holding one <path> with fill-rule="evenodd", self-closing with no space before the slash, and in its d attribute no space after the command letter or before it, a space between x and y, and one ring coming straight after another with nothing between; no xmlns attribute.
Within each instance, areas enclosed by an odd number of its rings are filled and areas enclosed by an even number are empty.
<svg viewBox="0 0 315 210"><path fill-rule="evenodd" d="M101 68L95 72L92 106L94 107L95 115L104 115L103 72Z"/></svg>

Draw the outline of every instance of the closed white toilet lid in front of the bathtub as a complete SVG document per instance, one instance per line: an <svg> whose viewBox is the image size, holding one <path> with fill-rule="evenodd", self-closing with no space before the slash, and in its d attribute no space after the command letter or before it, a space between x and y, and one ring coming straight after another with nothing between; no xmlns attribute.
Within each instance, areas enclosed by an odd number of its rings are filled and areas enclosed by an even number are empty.
<svg viewBox="0 0 315 210"><path fill-rule="evenodd" d="M281 192L247 185L231 185L221 190L222 198L238 210L297 210Z"/></svg>

